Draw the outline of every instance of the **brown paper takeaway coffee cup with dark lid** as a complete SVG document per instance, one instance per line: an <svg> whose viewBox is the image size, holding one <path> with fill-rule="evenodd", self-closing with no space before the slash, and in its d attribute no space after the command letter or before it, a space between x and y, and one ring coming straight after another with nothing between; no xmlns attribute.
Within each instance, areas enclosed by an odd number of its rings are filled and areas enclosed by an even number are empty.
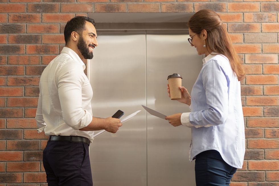
<svg viewBox="0 0 279 186"><path fill-rule="evenodd" d="M178 73L174 73L168 76L169 81L169 91L171 95L171 100L178 100L181 99L181 81L182 77Z"/></svg>

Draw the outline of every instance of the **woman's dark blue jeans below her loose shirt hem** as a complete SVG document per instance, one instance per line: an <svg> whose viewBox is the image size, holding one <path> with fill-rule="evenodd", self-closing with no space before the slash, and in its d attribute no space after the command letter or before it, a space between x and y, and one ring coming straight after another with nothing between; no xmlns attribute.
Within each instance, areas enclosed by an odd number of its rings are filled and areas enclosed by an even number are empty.
<svg viewBox="0 0 279 186"><path fill-rule="evenodd" d="M228 165L216 150L207 150L196 156L196 186L229 186L235 167Z"/></svg>

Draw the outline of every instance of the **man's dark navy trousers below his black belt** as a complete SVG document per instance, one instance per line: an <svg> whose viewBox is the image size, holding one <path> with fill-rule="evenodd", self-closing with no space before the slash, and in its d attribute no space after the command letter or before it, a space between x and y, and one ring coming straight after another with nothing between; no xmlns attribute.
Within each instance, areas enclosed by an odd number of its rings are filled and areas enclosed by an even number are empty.
<svg viewBox="0 0 279 186"><path fill-rule="evenodd" d="M89 146L81 142L49 141L43 152L48 186L92 186Z"/></svg>

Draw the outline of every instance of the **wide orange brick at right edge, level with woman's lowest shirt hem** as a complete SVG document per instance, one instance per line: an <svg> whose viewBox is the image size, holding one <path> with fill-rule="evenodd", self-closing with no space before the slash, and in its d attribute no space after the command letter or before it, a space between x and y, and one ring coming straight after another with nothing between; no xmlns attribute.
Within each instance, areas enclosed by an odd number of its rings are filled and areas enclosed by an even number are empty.
<svg viewBox="0 0 279 186"><path fill-rule="evenodd" d="M249 170L278 170L279 160L267 161L267 160L256 160L249 161Z"/></svg>

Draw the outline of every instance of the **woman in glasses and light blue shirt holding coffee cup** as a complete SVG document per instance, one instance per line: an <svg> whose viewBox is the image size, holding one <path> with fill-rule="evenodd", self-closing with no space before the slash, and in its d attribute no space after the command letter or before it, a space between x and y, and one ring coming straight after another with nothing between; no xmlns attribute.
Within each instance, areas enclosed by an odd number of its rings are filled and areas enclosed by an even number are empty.
<svg viewBox="0 0 279 186"><path fill-rule="evenodd" d="M191 95L179 87L181 103L191 112L167 116L173 126L191 127L190 161L195 161L196 185L229 185L245 153L240 80L245 76L225 25L212 10L200 10L188 22L190 38L203 67ZM169 86L168 86L169 93ZM170 96L170 94L169 94Z"/></svg>

